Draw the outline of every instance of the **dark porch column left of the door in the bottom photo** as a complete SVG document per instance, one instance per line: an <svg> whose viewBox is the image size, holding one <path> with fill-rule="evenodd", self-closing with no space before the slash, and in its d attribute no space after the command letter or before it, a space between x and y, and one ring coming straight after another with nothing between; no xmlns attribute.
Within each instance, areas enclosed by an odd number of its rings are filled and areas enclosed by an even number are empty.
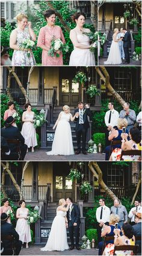
<svg viewBox="0 0 142 256"><path fill-rule="evenodd" d="M32 162L32 202L38 202L38 168L37 162Z"/></svg>

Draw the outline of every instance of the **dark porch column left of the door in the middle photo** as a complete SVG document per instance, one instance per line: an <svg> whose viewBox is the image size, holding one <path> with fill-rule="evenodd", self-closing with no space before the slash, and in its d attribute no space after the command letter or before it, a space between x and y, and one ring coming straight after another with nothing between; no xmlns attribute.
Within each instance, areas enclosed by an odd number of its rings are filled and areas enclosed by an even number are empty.
<svg viewBox="0 0 142 256"><path fill-rule="evenodd" d="M39 97L37 105L44 106L44 68L39 67L39 84L38 84L38 90L39 90Z"/></svg>

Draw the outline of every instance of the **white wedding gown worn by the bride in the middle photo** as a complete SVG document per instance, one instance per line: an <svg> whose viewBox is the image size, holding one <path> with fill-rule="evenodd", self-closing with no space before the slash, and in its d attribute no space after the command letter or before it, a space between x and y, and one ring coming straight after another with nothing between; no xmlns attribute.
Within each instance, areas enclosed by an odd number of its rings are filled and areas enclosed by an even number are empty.
<svg viewBox="0 0 142 256"><path fill-rule="evenodd" d="M75 154L72 143L72 131L70 128L70 113L61 112L61 118L55 130L52 151L46 152L47 155L69 156Z"/></svg>

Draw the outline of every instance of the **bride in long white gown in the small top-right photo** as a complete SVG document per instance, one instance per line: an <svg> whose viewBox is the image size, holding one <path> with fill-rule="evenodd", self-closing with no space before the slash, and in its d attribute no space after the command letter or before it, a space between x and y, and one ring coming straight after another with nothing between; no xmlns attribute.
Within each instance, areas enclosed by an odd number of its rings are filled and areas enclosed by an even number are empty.
<svg viewBox="0 0 142 256"><path fill-rule="evenodd" d="M122 38L118 39L117 34L119 33L118 28L114 28L113 41L110 47L110 53L108 54L107 61L104 62L105 65L119 65L122 63L122 57L119 49L119 41L122 41Z"/></svg>

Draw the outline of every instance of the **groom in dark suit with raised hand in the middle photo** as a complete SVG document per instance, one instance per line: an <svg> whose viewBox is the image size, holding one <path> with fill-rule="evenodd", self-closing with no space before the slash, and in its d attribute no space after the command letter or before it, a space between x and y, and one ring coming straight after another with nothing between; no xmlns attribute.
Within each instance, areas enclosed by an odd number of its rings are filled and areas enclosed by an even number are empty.
<svg viewBox="0 0 142 256"><path fill-rule="evenodd" d="M82 136L82 153L87 155L85 145L86 145L86 136L87 136L87 129L89 128L88 123L88 116L91 117L91 111L88 105L84 108L84 103L79 102L78 108L75 110L75 122L76 122L76 138L77 138L77 146L78 150L76 154L81 153L81 136Z"/></svg>

